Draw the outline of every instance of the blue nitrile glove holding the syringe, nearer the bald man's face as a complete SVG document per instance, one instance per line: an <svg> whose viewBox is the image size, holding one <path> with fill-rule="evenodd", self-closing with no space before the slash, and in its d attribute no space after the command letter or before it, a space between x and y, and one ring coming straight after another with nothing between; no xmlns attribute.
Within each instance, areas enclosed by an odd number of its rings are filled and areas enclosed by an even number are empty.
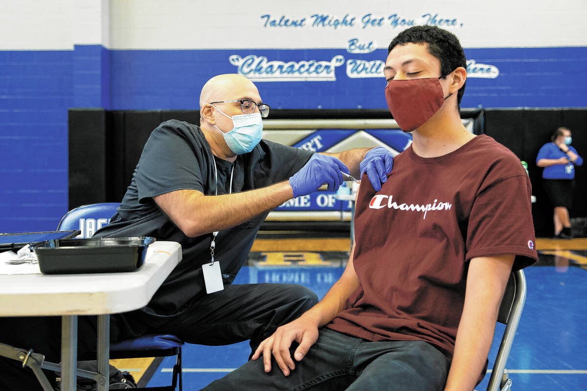
<svg viewBox="0 0 587 391"><path fill-rule="evenodd" d="M349 174L349 169L339 159L313 154L306 165L289 178L289 184L294 189L294 197L315 192L325 183L328 184L328 190L337 191L343 182L340 171Z"/></svg>

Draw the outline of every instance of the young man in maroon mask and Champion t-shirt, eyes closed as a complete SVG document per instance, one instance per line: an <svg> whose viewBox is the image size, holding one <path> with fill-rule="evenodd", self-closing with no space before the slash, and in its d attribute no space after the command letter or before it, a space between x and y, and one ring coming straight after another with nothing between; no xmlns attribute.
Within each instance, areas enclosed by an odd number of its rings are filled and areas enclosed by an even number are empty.
<svg viewBox="0 0 587 391"><path fill-rule="evenodd" d="M392 40L385 96L413 144L380 191L362 182L348 266L205 390L472 390L483 378L508 277L537 253L519 159L461 122L465 67L446 30Z"/></svg>

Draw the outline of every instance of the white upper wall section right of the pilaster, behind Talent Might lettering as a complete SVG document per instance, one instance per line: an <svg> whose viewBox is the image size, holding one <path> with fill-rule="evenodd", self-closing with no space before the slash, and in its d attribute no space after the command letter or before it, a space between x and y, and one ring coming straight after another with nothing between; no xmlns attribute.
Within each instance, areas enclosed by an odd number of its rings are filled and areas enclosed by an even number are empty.
<svg viewBox="0 0 587 391"><path fill-rule="evenodd" d="M390 5L392 4L392 5ZM404 27L388 19L426 23L430 16L456 19L447 29L456 33L464 47L584 46L587 43L587 1L559 0L257 0L254 4L234 0L191 1L113 0L112 47L175 49L318 49L345 48L350 39L386 47ZM329 15L354 26L315 26L312 15ZM371 16L365 16L371 14ZM284 19L303 26L271 27ZM330 19L329 18L329 19ZM365 18L365 19L363 19ZM363 28L367 19L379 25ZM376 23L377 24L377 23Z"/></svg>

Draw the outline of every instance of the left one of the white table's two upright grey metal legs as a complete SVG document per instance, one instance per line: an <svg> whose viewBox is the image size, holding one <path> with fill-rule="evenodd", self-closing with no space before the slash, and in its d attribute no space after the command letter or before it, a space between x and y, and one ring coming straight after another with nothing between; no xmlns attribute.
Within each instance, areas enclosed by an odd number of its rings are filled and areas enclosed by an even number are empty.
<svg viewBox="0 0 587 391"><path fill-rule="evenodd" d="M76 390L77 315L61 318L61 390Z"/></svg>

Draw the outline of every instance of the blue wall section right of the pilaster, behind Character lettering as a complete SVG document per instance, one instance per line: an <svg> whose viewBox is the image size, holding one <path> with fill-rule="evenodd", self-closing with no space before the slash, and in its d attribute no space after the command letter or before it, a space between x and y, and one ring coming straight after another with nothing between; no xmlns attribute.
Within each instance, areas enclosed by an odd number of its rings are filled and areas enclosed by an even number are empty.
<svg viewBox="0 0 587 391"><path fill-rule="evenodd" d="M231 55L254 54L283 62L312 59L384 60L387 50L365 55L345 50L114 50L110 52L112 107L149 110L198 107L201 86L214 74L235 73ZM467 81L462 107L587 107L587 47L465 50L468 59L497 66L497 79ZM384 80L264 81L261 97L275 108L385 108ZM379 92L378 92L379 91Z"/></svg>

